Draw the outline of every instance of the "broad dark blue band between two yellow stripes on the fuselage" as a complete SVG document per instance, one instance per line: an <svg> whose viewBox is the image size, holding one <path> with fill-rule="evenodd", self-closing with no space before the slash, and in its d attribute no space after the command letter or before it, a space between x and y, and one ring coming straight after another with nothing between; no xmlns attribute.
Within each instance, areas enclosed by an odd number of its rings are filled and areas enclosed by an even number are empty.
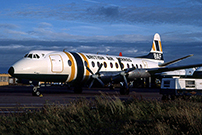
<svg viewBox="0 0 202 135"><path fill-rule="evenodd" d="M74 52L70 52L70 53L74 56L76 63L77 63L77 76L76 76L75 82L76 83L81 82L83 79L83 75L84 75L83 61L77 53L74 53Z"/></svg>

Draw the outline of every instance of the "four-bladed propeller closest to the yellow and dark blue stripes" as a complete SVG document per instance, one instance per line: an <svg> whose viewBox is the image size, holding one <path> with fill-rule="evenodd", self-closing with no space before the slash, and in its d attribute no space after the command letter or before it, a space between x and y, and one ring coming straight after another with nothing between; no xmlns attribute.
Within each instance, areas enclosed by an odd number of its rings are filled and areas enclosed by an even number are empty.
<svg viewBox="0 0 202 135"><path fill-rule="evenodd" d="M103 66L103 64L101 63L100 66L99 66L99 68L98 68L98 70L97 70L97 72L94 74L92 72L92 70L90 70L90 68L87 67L87 65L86 65L86 69L92 74L91 77L93 78L92 82L90 83L90 85L88 87L89 89L92 87L92 85L93 85L93 83L94 83L95 80L97 80L102 86L104 86L104 83L99 78L99 75L100 75L99 72L100 72L102 66Z"/></svg>

